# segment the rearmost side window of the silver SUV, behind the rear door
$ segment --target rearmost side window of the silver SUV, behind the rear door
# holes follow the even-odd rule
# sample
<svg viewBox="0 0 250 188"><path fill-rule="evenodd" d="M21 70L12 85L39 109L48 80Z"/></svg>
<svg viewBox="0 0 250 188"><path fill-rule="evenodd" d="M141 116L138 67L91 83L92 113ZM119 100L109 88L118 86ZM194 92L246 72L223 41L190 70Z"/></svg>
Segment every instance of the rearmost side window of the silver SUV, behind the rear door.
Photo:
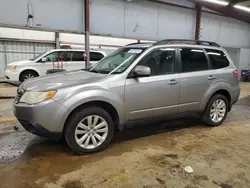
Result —
<svg viewBox="0 0 250 188"><path fill-rule="evenodd" d="M229 61L224 52L211 49L206 49L206 51L213 69L221 69L229 66Z"/></svg>

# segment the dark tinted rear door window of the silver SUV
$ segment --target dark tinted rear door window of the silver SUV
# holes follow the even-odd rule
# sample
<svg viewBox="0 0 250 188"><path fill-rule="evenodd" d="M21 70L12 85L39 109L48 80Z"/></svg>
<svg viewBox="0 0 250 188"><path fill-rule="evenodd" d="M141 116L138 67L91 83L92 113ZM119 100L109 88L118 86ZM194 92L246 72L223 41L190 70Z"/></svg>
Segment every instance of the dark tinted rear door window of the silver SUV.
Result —
<svg viewBox="0 0 250 188"><path fill-rule="evenodd" d="M194 72L208 69L208 61L202 49L180 49L182 72Z"/></svg>

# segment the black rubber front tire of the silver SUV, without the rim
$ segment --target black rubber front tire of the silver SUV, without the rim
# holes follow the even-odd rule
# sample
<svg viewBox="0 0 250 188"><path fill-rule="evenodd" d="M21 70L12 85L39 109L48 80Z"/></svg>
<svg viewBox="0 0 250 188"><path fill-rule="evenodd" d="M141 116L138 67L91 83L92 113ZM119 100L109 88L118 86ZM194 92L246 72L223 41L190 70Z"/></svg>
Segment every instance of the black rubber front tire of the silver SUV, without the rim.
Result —
<svg viewBox="0 0 250 188"><path fill-rule="evenodd" d="M100 117L102 117L103 119L105 119L105 121L108 124L108 135L105 139L105 141L98 147L94 148L94 149L85 149L82 148L81 146L78 145L78 143L75 140L75 129L78 125L78 123L84 119L87 116L90 115L98 115ZM93 153L93 152L98 152L103 150L104 148L106 148L108 146L108 144L110 143L113 134L114 134L114 124L113 124L113 120L110 117L110 115L108 114L108 112L106 112L105 110L103 110L102 108L99 107L90 107L90 108L84 108L78 112L76 112L75 114L73 114L69 121L66 123L66 129L65 129L65 140L67 142L67 144L70 146L70 148L79 154L83 154L83 153Z"/></svg>

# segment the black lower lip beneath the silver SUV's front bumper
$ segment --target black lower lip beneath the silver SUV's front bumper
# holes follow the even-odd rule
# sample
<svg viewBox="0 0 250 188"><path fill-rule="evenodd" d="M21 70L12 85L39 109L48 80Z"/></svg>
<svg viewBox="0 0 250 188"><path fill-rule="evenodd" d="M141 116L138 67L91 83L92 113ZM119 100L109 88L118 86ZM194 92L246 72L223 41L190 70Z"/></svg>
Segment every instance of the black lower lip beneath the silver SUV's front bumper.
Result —
<svg viewBox="0 0 250 188"><path fill-rule="evenodd" d="M32 123L27 120L21 120L21 119L18 119L18 121L27 131L29 131L32 134L46 137L55 141L60 140L62 137L61 132L51 132L37 123Z"/></svg>

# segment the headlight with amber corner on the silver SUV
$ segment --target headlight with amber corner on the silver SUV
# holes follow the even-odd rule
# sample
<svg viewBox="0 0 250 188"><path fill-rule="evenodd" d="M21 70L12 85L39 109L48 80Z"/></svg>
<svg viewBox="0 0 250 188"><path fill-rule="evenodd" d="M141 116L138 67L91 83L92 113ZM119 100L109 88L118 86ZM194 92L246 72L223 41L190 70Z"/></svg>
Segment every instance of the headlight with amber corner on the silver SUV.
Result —
<svg viewBox="0 0 250 188"><path fill-rule="evenodd" d="M56 91L47 92L32 92L26 91L20 99L20 102L27 104L36 104L52 98L56 94Z"/></svg>

